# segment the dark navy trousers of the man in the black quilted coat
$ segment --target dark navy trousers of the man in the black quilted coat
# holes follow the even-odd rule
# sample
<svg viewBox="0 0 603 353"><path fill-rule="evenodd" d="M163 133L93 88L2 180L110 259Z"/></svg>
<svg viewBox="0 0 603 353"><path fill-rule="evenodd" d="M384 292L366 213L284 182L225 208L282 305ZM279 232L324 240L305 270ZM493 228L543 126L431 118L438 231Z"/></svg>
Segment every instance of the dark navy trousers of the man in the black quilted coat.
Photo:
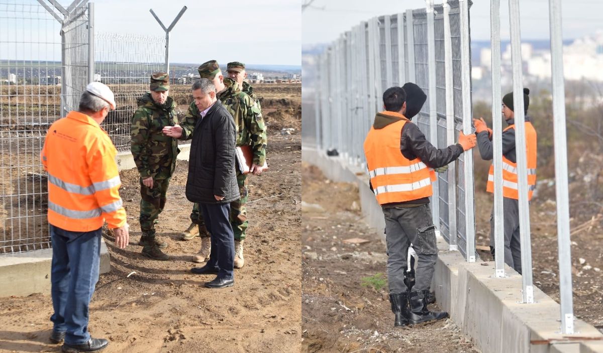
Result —
<svg viewBox="0 0 603 353"><path fill-rule="evenodd" d="M218 277L234 277L235 236L229 221L230 204L199 204L207 230L211 234L212 251L207 265L218 268Z"/></svg>

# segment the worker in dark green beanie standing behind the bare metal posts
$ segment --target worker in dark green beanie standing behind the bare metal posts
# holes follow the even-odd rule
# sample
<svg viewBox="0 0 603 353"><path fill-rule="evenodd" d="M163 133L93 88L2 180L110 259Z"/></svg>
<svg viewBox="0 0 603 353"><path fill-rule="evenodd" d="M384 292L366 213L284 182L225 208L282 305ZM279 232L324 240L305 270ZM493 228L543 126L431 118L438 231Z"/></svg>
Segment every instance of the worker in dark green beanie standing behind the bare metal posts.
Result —
<svg viewBox="0 0 603 353"><path fill-rule="evenodd" d="M528 158L528 201L536 187L536 130L528 116L529 89L523 89L525 115L526 157ZM517 152L515 149L515 110L513 92L502 98L502 116L508 127L502 131L502 207L504 211L505 263L522 273L522 248L519 237L519 193L517 191ZM483 160L492 160L492 130L484 118L473 119L478 137L479 154ZM494 164L488 172L487 192L494 192ZM490 215L490 252L494 256L494 210Z"/></svg>

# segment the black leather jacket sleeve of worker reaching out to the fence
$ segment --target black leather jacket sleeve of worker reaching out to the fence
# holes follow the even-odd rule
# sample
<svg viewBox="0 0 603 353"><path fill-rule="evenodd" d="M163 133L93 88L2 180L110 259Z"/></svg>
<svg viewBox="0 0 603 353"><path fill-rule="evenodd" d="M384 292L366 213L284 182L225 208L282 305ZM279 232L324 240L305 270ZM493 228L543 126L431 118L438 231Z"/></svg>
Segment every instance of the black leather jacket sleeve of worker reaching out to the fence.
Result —
<svg viewBox="0 0 603 353"><path fill-rule="evenodd" d="M400 151L409 160L420 158L431 168L443 167L463 154L463 146L456 143L447 148L437 149L429 143L425 135L414 123L406 123L400 137Z"/></svg>

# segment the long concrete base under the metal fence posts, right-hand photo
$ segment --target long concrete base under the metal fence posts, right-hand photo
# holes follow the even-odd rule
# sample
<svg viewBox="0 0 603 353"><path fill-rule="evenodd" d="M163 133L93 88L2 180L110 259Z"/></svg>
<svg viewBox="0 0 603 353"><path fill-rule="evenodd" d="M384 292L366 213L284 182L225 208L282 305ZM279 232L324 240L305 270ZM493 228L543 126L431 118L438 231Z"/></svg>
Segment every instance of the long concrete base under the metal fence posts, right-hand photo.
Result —
<svg viewBox="0 0 603 353"><path fill-rule="evenodd" d="M362 213L377 234L384 219L365 172L347 165L341 157L303 147L302 160L323 170L333 181L358 185ZM560 333L559 304L534 287L534 304L523 304L522 277L506 266L506 278L493 278L494 263L467 263L463 255L448 251L438 238L440 249L432 289L439 304L484 353L594 353L603 352L603 334L593 326L575 320L575 334Z"/></svg>

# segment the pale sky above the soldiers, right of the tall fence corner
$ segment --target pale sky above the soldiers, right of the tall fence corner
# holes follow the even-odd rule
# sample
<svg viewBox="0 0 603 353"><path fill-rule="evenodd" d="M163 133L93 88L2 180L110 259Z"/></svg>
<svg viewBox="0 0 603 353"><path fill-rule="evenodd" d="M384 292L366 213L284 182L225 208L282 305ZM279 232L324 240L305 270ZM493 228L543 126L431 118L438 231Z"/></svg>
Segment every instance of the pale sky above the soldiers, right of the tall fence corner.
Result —
<svg viewBox="0 0 603 353"><path fill-rule="evenodd" d="M96 0L96 31L165 36L165 27L184 5L169 37L172 63L301 64L300 1L295 0ZM71 0L60 0L65 6Z"/></svg>

